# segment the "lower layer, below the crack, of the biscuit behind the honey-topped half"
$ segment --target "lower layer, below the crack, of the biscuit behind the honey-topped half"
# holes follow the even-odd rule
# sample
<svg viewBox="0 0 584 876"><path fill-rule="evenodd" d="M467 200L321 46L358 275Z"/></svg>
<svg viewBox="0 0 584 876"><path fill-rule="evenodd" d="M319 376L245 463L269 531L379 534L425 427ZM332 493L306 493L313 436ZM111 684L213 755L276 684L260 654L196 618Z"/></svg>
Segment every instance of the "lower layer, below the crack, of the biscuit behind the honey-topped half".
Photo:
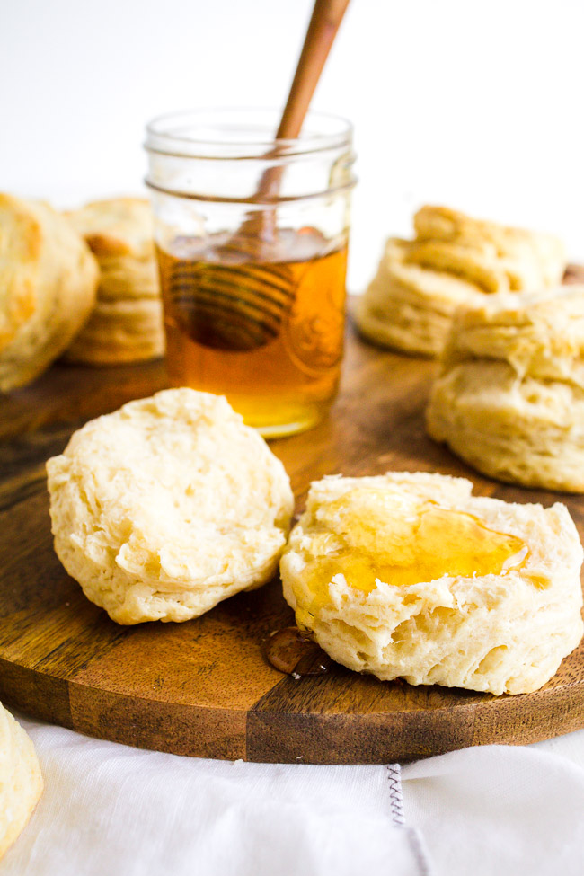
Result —
<svg viewBox="0 0 584 876"><path fill-rule="evenodd" d="M464 362L438 378L429 436L479 472L546 490L584 492L584 393L518 380L504 362Z"/></svg>

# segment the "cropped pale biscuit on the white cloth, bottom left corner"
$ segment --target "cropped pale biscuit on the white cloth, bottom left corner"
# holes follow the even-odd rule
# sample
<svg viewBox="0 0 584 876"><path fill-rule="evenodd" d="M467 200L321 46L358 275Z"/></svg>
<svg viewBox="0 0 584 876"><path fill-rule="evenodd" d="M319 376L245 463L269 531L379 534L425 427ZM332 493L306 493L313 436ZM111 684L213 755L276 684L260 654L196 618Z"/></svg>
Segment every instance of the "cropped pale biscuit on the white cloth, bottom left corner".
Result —
<svg viewBox="0 0 584 876"><path fill-rule="evenodd" d="M0 858L26 826L41 793L31 739L0 705Z"/></svg>

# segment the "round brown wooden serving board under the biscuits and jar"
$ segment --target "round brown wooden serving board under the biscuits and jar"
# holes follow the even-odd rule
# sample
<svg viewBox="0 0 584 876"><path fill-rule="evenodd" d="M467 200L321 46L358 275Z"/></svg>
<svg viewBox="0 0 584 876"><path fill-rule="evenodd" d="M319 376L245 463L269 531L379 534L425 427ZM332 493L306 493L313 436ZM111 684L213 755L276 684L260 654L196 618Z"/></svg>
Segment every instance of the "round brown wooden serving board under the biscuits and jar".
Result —
<svg viewBox="0 0 584 876"><path fill-rule="evenodd" d="M584 497L486 480L426 437L435 364L350 331L341 394L316 429L272 442L297 509L323 474L438 471L511 501L560 498L584 535ZM84 420L165 385L161 363L56 366L0 405L0 699L23 712L143 748L199 757L382 763L453 748L526 743L584 727L584 644L534 694L500 696L361 677L295 680L261 642L294 623L279 580L185 624L122 627L83 596L53 553L44 462Z"/></svg>

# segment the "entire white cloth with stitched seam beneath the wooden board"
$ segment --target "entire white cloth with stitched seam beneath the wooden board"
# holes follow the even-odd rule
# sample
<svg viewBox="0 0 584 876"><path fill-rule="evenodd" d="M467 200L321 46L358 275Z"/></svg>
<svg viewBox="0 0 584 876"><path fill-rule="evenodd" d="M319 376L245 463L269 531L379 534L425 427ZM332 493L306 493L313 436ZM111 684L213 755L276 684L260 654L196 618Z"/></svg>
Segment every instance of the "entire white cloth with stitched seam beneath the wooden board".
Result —
<svg viewBox="0 0 584 876"><path fill-rule="evenodd" d="M402 798L392 765L233 764L20 720L46 789L1 876L584 872L584 731L403 766Z"/></svg>

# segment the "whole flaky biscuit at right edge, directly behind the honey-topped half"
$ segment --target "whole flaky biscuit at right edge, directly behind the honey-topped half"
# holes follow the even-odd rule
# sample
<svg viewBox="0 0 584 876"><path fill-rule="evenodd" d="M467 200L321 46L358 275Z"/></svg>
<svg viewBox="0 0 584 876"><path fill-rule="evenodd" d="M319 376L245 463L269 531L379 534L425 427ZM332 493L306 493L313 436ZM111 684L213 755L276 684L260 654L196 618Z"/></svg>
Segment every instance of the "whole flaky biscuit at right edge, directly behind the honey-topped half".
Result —
<svg viewBox="0 0 584 876"><path fill-rule="evenodd" d="M491 477L584 492L584 286L461 308L426 423Z"/></svg>

